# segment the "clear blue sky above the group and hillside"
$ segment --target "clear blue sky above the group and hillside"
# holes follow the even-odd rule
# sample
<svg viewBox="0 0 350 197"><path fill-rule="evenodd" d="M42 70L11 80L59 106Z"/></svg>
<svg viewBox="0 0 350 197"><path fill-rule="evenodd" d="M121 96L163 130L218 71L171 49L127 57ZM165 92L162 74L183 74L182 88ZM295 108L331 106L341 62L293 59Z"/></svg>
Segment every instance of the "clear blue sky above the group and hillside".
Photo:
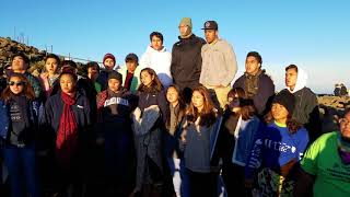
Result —
<svg viewBox="0 0 350 197"><path fill-rule="evenodd" d="M277 90L291 63L307 72L315 93L332 93L340 82L350 88L348 0L1 0L0 36L21 35L39 49L95 61L112 53L125 65L127 54L144 53L153 31L171 51L184 16L200 37L206 21L218 22L237 56L236 78L247 53L258 51Z"/></svg>

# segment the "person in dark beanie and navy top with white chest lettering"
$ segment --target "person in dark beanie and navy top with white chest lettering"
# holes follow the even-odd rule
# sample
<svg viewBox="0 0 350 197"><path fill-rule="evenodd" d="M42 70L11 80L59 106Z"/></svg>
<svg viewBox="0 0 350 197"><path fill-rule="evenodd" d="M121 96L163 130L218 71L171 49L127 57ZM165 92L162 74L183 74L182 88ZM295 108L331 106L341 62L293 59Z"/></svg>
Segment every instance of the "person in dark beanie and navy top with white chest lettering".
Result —
<svg viewBox="0 0 350 197"><path fill-rule="evenodd" d="M105 183L108 194L128 196L132 192L133 143L131 131L131 103L135 99L122 88L122 76L112 70L107 90L97 95L96 143L104 148Z"/></svg>

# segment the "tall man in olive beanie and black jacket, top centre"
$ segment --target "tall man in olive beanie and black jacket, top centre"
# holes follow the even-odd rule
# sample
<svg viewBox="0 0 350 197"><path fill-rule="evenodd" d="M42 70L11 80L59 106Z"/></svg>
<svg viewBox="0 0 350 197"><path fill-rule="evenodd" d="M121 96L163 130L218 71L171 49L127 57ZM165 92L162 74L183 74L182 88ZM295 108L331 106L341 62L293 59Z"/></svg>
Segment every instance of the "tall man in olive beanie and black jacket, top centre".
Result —
<svg viewBox="0 0 350 197"><path fill-rule="evenodd" d="M191 90L199 85L201 72L201 47L206 40L192 34L190 18L183 18L178 25L178 42L173 45L171 74L186 103L190 102Z"/></svg>

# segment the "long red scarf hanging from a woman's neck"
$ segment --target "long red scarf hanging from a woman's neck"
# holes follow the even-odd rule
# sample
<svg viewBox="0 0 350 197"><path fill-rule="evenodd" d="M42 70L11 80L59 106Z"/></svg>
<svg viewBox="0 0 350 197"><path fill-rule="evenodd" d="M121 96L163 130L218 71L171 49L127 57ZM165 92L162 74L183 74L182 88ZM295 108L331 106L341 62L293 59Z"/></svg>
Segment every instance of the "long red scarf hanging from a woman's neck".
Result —
<svg viewBox="0 0 350 197"><path fill-rule="evenodd" d="M56 157L61 167L69 169L78 147L78 125L71 109L71 106L75 104L75 96L61 92L61 100L63 111L56 139Z"/></svg>

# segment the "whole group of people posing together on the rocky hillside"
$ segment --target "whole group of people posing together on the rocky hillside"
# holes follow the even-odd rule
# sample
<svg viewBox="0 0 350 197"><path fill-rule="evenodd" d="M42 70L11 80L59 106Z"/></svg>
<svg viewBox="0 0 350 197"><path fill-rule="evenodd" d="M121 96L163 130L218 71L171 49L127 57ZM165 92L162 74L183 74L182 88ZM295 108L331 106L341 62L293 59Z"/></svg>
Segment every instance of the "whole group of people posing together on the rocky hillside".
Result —
<svg viewBox="0 0 350 197"><path fill-rule="evenodd" d="M302 68L285 67L276 94L250 51L233 82L235 54L215 21L206 39L189 18L178 30L172 53L153 32L140 60L129 54L115 70L106 54L104 69L92 61L84 76L50 54L34 77L16 54L0 100L11 196L45 196L48 183L50 196L350 195L349 111L322 135Z"/></svg>

